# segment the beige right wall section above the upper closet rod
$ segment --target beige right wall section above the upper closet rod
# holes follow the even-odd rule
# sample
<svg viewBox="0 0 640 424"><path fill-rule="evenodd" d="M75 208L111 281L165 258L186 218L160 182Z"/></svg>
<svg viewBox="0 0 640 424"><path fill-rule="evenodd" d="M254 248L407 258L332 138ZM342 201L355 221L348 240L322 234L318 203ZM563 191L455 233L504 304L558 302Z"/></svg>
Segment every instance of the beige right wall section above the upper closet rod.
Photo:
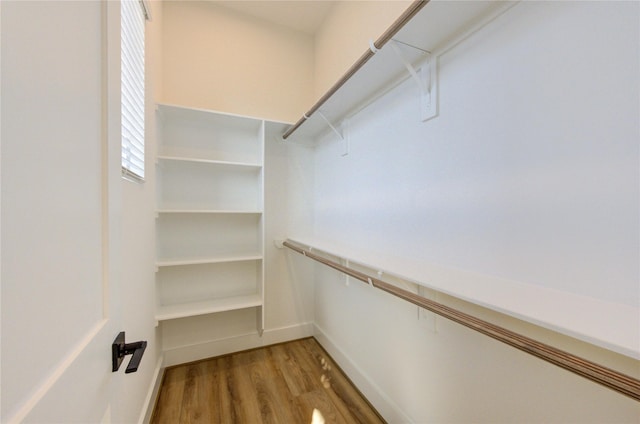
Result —
<svg viewBox="0 0 640 424"><path fill-rule="evenodd" d="M369 41L376 41L410 4L406 0L335 2L315 35L314 100L333 86L369 49Z"/></svg>

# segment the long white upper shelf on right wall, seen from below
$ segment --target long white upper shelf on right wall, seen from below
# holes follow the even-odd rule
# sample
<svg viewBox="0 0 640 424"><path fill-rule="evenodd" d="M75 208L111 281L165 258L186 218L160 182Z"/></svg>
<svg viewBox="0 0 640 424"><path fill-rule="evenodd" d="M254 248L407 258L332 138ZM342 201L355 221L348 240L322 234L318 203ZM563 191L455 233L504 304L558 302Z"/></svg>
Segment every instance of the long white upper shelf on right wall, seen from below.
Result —
<svg viewBox="0 0 640 424"><path fill-rule="evenodd" d="M431 1L392 40L397 42L404 59L418 66L429 57L429 53L437 56L439 51L451 45L453 40L461 37L476 23L496 16L515 3L496 0ZM335 93L324 102L319 100L310 111L321 107L327 120L338 127L342 120L409 78L407 68L390 44L391 41L380 48ZM363 46L365 54L368 49L369 46ZM291 133L290 140L309 142L331 131L318 113L307 112L305 115L309 118L303 117L298 121L302 123Z"/></svg>

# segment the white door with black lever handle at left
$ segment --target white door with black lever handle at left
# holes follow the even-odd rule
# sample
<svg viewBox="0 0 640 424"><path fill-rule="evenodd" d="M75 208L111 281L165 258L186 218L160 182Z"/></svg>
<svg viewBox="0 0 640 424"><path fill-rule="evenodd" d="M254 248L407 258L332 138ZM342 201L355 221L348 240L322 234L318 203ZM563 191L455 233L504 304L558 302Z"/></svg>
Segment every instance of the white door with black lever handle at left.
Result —
<svg viewBox="0 0 640 424"><path fill-rule="evenodd" d="M108 421L125 378L106 3L0 6L2 422Z"/></svg>

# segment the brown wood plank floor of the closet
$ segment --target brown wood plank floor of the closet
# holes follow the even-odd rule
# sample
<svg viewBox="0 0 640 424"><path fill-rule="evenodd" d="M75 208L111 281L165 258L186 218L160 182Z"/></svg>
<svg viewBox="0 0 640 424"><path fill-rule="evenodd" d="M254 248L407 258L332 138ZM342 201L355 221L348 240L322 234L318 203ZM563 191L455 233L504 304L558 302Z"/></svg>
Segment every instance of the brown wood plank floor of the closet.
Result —
<svg viewBox="0 0 640 424"><path fill-rule="evenodd" d="M313 338L167 368L152 423L384 423Z"/></svg>

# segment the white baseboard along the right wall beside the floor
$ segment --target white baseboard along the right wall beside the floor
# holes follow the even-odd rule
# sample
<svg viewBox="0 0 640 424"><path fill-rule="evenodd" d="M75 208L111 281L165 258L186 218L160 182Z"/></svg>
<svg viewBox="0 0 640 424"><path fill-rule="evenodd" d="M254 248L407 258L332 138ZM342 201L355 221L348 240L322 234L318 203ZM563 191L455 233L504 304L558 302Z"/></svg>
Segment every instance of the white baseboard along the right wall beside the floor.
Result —
<svg viewBox="0 0 640 424"><path fill-rule="evenodd" d="M358 367L357 361L342 351L317 324L313 326L313 336L387 422L413 423L413 420L369 378L367 373Z"/></svg>

